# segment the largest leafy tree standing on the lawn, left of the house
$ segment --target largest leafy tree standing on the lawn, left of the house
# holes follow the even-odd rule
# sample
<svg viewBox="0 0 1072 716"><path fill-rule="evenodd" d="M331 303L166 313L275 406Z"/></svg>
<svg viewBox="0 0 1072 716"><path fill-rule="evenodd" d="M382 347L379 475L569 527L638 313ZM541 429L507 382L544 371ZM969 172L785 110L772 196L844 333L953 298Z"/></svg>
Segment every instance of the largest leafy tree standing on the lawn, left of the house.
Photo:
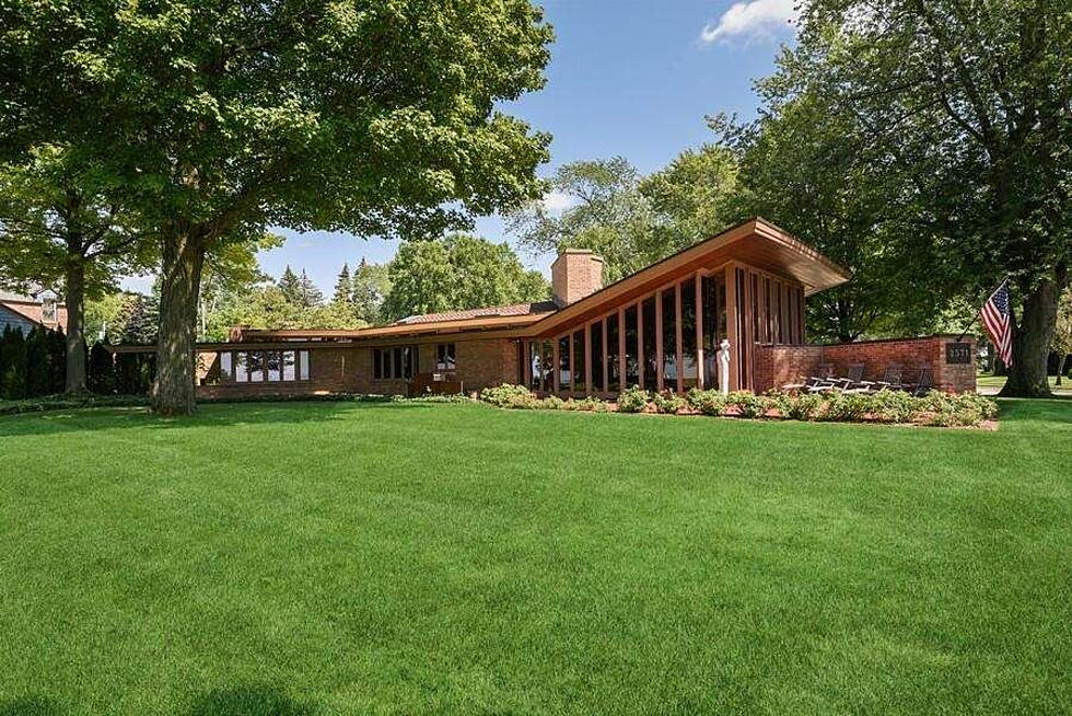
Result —
<svg viewBox="0 0 1072 716"><path fill-rule="evenodd" d="M156 231L161 413L195 408L208 252L268 226L439 235L539 192L548 138L497 109L544 84L551 30L528 0L88 0L3 15L0 125L103 137ZM58 106L39 100L48 81L63 84Z"/></svg>

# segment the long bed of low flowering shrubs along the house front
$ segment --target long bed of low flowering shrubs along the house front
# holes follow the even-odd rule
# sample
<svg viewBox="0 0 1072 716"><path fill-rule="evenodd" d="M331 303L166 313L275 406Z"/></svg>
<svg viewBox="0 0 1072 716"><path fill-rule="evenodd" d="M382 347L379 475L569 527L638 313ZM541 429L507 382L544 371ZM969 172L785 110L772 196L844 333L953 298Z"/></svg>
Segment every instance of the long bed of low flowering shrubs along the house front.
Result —
<svg viewBox="0 0 1072 716"><path fill-rule="evenodd" d="M998 416L998 403L989 397L939 391L917 397L887 390L871 394L832 391L797 395L777 391L756 395L749 391L737 391L722 395L713 390L694 389L688 395L680 396L668 391L650 393L640 388L629 388L618 395L616 403L609 403L595 397L539 397L523 385L503 384L483 390L480 400L509 409L661 413L943 427L978 427Z"/></svg>

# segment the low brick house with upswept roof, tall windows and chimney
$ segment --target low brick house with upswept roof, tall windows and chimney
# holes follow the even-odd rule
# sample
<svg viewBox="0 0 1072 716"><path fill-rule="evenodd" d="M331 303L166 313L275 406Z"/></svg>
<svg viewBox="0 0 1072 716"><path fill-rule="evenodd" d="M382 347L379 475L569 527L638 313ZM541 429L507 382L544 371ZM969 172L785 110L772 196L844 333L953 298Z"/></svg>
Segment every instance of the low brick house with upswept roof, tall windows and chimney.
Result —
<svg viewBox="0 0 1072 716"><path fill-rule="evenodd" d="M624 388L718 385L730 342L732 390L761 392L863 365L882 379L930 368L935 388L975 390L970 338L806 344L808 296L847 270L764 219L751 219L603 286L603 259L569 250L551 265L552 301L450 311L359 331L235 328L199 344L198 395L471 392L501 383L539 393L614 396ZM151 347L119 346L117 351Z"/></svg>

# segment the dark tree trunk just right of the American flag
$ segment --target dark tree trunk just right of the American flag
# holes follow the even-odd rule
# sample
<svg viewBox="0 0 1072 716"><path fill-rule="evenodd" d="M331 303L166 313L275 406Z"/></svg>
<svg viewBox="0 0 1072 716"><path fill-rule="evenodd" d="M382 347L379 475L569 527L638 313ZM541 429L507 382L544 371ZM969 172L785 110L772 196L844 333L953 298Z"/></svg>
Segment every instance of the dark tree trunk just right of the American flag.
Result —
<svg viewBox="0 0 1072 716"><path fill-rule="evenodd" d="M1068 270L1059 266L1053 276L1030 292L1024 301L1019 324L1013 325L1013 365L1002 397L1049 397L1046 362L1057 326L1057 303L1068 284Z"/></svg>

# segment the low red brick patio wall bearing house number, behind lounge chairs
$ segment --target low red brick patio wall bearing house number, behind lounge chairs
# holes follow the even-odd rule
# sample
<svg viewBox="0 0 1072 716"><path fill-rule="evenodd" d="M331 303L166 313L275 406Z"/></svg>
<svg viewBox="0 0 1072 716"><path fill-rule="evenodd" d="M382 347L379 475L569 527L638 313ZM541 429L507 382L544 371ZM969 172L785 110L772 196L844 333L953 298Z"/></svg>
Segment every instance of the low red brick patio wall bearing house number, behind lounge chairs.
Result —
<svg viewBox="0 0 1072 716"><path fill-rule="evenodd" d="M834 346L756 346L756 392L786 383L801 382L819 374L825 365L834 367L836 376L846 376L849 366L863 363L864 380L882 380L889 366L901 367L901 379L913 382L920 368L930 367L934 386L957 393L976 390L975 338L965 336L972 361L947 365L945 346L957 336L937 335L892 340L861 340Z"/></svg>

